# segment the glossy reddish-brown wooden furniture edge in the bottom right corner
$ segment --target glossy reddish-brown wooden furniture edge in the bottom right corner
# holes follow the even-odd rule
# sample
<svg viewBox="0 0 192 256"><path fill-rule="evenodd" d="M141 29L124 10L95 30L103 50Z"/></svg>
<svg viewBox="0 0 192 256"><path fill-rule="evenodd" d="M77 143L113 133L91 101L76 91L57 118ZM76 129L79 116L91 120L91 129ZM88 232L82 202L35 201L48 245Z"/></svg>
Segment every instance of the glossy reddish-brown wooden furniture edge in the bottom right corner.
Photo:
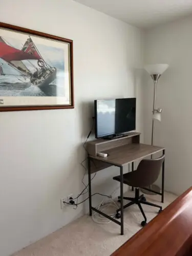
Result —
<svg viewBox="0 0 192 256"><path fill-rule="evenodd" d="M192 256L192 187L112 256Z"/></svg>

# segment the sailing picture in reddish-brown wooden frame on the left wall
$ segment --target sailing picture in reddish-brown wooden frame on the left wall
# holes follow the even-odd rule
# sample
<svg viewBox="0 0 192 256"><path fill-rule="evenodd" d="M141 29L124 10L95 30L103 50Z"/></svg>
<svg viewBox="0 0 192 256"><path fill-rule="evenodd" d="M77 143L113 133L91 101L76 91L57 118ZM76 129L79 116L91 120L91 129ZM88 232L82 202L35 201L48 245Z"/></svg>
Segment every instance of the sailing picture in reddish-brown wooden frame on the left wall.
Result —
<svg viewBox="0 0 192 256"><path fill-rule="evenodd" d="M73 41L0 23L0 111L72 108Z"/></svg>

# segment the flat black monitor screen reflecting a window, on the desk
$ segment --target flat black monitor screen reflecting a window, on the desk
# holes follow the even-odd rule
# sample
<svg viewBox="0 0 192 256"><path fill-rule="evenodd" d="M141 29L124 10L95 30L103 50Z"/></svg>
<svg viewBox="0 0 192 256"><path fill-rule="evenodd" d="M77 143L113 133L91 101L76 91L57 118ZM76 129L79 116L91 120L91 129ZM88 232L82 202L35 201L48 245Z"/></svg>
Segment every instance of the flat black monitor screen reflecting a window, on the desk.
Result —
<svg viewBox="0 0 192 256"><path fill-rule="evenodd" d="M96 138L136 128L136 98L95 100Z"/></svg>

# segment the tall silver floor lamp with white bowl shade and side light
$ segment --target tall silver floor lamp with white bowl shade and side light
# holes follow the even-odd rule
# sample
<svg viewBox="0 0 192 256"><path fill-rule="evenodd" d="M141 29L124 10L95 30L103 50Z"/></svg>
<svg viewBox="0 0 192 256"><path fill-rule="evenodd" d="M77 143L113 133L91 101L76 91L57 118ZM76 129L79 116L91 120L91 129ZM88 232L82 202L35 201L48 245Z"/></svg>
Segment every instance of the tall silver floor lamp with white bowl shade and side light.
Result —
<svg viewBox="0 0 192 256"><path fill-rule="evenodd" d="M157 96L157 81L160 76L165 72L168 68L167 64L154 64L154 65L146 65L144 69L151 75L154 82L154 96L153 96L153 118L152 118L152 145L154 144L154 136L155 136L155 120L161 121L161 112L162 109L156 109L156 96ZM152 158L152 156L151 156ZM157 185L152 185L150 189L160 192L160 188ZM153 192L143 190L145 194L155 195Z"/></svg>

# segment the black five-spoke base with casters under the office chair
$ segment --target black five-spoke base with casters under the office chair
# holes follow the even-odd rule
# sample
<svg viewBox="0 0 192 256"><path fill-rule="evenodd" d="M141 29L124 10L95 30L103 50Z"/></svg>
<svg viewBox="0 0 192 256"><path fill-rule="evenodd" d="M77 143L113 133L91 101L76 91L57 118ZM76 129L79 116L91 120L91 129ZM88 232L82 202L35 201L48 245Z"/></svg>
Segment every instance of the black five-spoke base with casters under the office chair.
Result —
<svg viewBox="0 0 192 256"><path fill-rule="evenodd" d="M157 204L153 204L153 203L150 203L150 202L147 202L146 198L143 195L139 196L139 188L135 189L135 198L133 198L133 197L123 197L123 199L131 201L128 204L125 204L123 206L123 209L125 209L127 207L130 207L133 204L137 204L138 205L138 207L139 207L139 209L140 209L140 211L142 213L142 216L144 218L144 221L141 222L141 226L142 227L144 227L147 224L147 219L146 219L146 216L145 216L145 213L143 211L143 208L142 208L141 204L146 204L146 205L150 205L150 206L154 206L154 207L160 208L159 209L159 213L162 211L162 206L157 205ZM118 201L120 201L120 197L118 197ZM121 208L117 209L117 213L116 213L116 216L115 216L116 219L119 219L121 217L119 211L121 211Z"/></svg>

